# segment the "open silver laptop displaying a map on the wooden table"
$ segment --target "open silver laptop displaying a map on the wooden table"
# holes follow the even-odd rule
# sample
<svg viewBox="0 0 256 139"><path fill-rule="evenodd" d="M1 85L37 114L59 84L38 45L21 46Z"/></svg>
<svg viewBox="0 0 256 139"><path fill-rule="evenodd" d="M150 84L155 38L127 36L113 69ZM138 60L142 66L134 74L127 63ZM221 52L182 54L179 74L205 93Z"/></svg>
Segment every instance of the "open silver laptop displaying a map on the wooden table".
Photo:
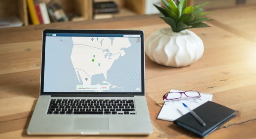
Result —
<svg viewBox="0 0 256 139"><path fill-rule="evenodd" d="M52 30L42 35L40 96L28 134L150 134L144 33Z"/></svg>

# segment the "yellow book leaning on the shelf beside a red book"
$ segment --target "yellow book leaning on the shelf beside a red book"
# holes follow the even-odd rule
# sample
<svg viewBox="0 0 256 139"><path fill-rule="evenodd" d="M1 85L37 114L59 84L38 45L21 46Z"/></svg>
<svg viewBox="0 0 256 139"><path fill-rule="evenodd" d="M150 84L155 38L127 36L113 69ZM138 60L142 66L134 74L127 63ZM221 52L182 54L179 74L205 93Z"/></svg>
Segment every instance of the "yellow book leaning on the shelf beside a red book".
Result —
<svg viewBox="0 0 256 139"><path fill-rule="evenodd" d="M37 10L36 10L34 1L33 0L27 0L27 2L28 2L28 9L29 9L29 14L30 14L32 24L33 25L40 24L39 18L37 16Z"/></svg>

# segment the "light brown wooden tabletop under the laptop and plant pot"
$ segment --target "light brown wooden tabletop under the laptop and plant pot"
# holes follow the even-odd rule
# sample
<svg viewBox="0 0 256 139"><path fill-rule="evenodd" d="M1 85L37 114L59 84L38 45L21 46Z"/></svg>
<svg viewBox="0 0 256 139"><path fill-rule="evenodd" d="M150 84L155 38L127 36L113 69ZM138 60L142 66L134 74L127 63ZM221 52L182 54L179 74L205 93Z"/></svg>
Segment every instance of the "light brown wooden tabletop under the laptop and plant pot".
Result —
<svg viewBox="0 0 256 139"><path fill-rule="evenodd" d="M0 138L197 138L172 122L157 120L168 90L198 90L238 114L207 139L256 138L256 5L214 10L212 27L192 31L204 42L196 63L165 67L146 56L146 98L154 133L149 136L28 136L39 96L41 38L45 28L144 30L168 27L157 15L54 23L0 30Z"/></svg>

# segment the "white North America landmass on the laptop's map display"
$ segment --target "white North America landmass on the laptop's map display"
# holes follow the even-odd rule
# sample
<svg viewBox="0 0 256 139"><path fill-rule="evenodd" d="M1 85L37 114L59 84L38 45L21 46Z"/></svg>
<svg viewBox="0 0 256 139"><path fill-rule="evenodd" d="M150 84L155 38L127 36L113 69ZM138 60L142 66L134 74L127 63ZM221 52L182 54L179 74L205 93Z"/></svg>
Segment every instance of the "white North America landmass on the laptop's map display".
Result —
<svg viewBox="0 0 256 139"><path fill-rule="evenodd" d="M83 85L91 85L92 76L96 74L103 74L107 80L107 71L114 61L125 55L122 48L131 46L125 37L72 37L72 41L70 58L78 81L81 79Z"/></svg>

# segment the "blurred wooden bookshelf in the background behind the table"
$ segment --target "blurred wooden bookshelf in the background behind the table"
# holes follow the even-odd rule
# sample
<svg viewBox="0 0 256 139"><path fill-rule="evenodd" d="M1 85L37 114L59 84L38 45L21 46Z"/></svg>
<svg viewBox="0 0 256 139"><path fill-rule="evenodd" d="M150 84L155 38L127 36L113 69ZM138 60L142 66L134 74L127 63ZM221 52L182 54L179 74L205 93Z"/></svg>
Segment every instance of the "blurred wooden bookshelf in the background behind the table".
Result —
<svg viewBox="0 0 256 139"><path fill-rule="evenodd" d="M49 3L51 0L37 0ZM113 17L124 17L145 14L145 7L148 1L157 0L58 0L64 12L73 17L71 21L85 21L94 19L93 2L114 1L119 9L118 13L113 14ZM160 2L161 0L158 0ZM210 1L210 5L205 8L221 8L238 5L238 1L245 1L245 4L256 3L255 0L188 0L188 5L194 3L202 3ZM150 4L152 5L152 4ZM20 19L25 26L32 25L30 23L30 15L28 11L27 0L0 0L0 17L15 16Z"/></svg>

